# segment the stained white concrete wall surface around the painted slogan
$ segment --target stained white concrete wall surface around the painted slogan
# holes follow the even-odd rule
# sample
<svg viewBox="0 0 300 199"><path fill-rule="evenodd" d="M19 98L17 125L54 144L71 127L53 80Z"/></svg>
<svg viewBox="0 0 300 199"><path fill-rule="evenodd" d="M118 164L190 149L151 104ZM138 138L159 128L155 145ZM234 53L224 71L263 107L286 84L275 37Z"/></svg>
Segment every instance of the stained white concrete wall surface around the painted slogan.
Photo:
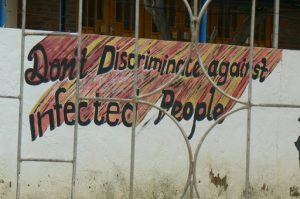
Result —
<svg viewBox="0 0 300 199"><path fill-rule="evenodd" d="M0 37L0 95L18 95L20 30L2 29ZM26 56L41 39L27 37ZM284 50L282 61L267 80L253 82L255 103L299 105L299 57L299 51ZM32 62L26 61L25 65L32 66ZM73 127L62 125L31 141L28 115L51 85L25 84L22 157L72 158ZM241 99L247 99L247 90ZM18 101L0 99L0 110L0 198L7 199L15 197L16 189ZM159 125L153 124L157 114L151 110L137 128L136 198L179 198L188 174L186 145L171 120L164 118ZM253 198L286 199L300 192L299 155L294 145L300 135L299 116L299 109L253 108L250 167ZM149 124L143 127L148 120ZM243 197L246 121L247 111L238 112L208 135L197 162L202 198ZM191 122L180 124L187 131L191 128ZM210 125L212 122L207 120L198 123L191 140L193 150ZM123 125L79 127L77 198L127 198L130 135L131 129ZM68 164L22 163L22 198L69 198L71 169ZM224 184L216 186L225 176L226 190Z"/></svg>

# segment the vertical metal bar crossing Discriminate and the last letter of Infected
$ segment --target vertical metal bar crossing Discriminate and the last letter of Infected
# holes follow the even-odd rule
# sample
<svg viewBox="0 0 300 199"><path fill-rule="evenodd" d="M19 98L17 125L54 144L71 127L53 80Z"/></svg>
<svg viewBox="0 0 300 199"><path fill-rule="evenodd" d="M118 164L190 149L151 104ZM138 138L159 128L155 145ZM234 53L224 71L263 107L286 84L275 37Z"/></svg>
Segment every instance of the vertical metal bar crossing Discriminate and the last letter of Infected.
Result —
<svg viewBox="0 0 300 199"><path fill-rule="evenodd" d="M139 0L135 1L135 64L133 71L133 90L134 90L134 101L133 101L133 113L132 113L132 128L131 128L131 154L130 154L130 184L129 184L129 199L133 199L133 181L134 181L134 161L135 161L135 131L136 131L136 118L137 118L137 97L138 97L138 46L139 46Z"/></svg>

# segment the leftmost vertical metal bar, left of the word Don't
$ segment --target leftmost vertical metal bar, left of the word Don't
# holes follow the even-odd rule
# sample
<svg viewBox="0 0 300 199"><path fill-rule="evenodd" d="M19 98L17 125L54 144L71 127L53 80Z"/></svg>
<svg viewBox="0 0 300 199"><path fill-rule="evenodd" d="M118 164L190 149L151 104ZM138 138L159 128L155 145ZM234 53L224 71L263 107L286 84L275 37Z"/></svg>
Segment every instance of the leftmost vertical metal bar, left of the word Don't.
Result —
<svg viewBox="0 0 300 199"><path fill-rule="evenodd" d="M24 59L25 59L25 28L26 28L26 0L22 1L22 35L21 35L21 72L20 72L20 98L19 98L19 121L18 121L18 151L17 151L17 189L16 198L20 198L20 175L22 153L22 121L23 121L23 93L24 93Z"/></svg>

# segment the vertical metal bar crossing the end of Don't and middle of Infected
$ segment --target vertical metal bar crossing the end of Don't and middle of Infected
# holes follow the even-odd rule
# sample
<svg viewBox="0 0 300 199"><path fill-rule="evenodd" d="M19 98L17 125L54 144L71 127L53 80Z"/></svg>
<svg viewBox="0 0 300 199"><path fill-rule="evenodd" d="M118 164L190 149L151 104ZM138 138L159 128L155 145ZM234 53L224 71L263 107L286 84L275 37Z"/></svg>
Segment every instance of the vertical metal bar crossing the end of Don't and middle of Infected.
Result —
<svg viewBox="0 0 300 199"><path fill-rule="evenodd" d="M75 93L75 125L73 138L73 168L72 168L72 188L71 199L75 197L76 183L76 166L77 166L77 139L78 139L78 118L79 118L79 85L80 85L80 67L81 67L81 31L82 31L82 0L78 5L78 43L77 43L77 76L76 76L76 93Z"/></svg>

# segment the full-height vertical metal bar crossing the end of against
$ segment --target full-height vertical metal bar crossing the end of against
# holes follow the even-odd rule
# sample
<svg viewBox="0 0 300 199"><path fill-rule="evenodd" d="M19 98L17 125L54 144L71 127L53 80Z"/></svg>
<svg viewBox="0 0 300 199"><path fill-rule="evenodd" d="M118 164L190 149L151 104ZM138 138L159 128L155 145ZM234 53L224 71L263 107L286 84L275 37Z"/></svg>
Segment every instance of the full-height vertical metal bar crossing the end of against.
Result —
<svg viewBox="0 0 300 199"><path fill-rule="evenodd" d="M251 8L251 29L250 29L250 60L249 60L249 86L248 86L248 111L247 111L247 139L246 139L246 177L245 189L246 199L250 199L250 141L251 141L251 101L252 101L252 71L254 59L254 32L255 32L255 8L256 0L252 0Z"/></svg>

